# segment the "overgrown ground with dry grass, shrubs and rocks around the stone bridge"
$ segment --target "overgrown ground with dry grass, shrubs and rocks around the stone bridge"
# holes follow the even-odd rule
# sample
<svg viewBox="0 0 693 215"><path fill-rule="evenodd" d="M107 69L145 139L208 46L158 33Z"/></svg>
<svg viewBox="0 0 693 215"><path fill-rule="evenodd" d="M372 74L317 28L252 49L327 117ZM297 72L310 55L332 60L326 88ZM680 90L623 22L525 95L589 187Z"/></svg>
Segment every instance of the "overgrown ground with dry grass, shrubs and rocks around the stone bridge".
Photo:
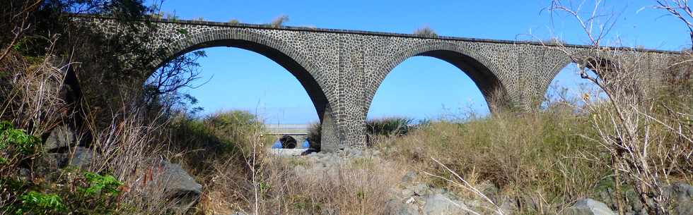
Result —
<svg viewBox="0 0 693 215"><path fill-rule="evenodd" d="M569 6L549 11L582 14ZM126 27L103 37L71 23L77 12ZM282 156L252 113L197 114L181 89L199 78L204 51L148 68L161 50L143 44L156 29L130 20L163 14L139 0L1 1L0 214L566 214L585 198L619 214L693 208L681 191L693 193L691 50L656 84L639 59L570 56L606 97L380 118L364 149ZM585 32L591 54L613 51ZM320 148L319 124L308 140Z"/></svg>

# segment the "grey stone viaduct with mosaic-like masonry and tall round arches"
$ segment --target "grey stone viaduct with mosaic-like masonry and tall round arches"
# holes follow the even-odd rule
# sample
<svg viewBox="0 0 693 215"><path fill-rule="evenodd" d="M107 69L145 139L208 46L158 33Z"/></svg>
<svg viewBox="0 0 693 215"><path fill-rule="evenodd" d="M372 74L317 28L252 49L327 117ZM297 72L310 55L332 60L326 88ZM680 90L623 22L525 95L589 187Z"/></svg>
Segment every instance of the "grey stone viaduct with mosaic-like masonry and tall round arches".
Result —
<svg viewBox="0 0 693 215"><path fill-rule="evenodd" d="M73 20L103 32L105 37L124 29L112 18L73 15ZM542 97L554 76L572 62L569 56L581 56L590 49L579 45L557 49L537 42L192 20L152 19L141 23L143 27L156 28L147 44L163 53L152 63L152 71L175 56L207 47L248 49L279 63L301 82L313 101L322 123L322 149L327 151L366 144L366 115L378 86L392 68L412 56L431 56L460 68L479 87L493 111L498 104L535 108L533 99ZM611 50L614 58L638 57L647 68L643 71L660 71L666 59L677 54L646 49ZM660 76L658 72L648 74L654 79Z"/></svg>

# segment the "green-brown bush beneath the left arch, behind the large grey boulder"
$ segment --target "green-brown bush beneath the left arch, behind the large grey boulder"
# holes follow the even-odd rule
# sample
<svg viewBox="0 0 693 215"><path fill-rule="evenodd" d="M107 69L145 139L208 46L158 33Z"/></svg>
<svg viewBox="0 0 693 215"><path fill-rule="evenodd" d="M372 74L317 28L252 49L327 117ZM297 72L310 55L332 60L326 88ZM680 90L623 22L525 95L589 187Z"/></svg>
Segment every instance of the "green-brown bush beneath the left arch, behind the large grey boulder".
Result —
<svg viewBox="0 0 693 215"><path fill-rule="evenodd" d="M219 162L224 168L244 175L252 156L264 155L264 145L274 141L274 137L259 137L265 133L264 123L248 111L220 111L204 118L176 116L170 124L168 139L169 151L185 156L171 156L172 162L180 163L197 181L205 185L211 182L211 174L219 171ZM270 139L271 138L271 139Z"/></svg>

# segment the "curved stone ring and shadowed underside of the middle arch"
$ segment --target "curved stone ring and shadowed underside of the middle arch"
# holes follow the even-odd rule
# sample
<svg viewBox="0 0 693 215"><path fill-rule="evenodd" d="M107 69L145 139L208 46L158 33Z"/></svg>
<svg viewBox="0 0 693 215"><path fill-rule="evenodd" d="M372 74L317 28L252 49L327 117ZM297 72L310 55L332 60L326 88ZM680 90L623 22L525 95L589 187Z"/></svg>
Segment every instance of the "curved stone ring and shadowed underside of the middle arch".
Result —
<svg viewBox="0 0 693 215"><path fill-rule="evenodd" d="M395 66L412 56L431 56L460 68L460 70L465 72L472 81L474 81L474 84L477 85L479 90L481 90L491 112L499 108L498 105L508 105L508 92L498 75L496 75L499 74L500 70L494 63L489 61L489 59L482 56L482 54L460 47L457 44L449 42L426 42L410 49L400 51L400 53L395 54L390 61L380 66L381 71L376 74L378 76L375 77L373 86L370 86L372 90L367 91L366 113L368 113L368 109L370 109L375 92L378 90L383 80L385 80L385 77ZM496 104L496 102L500 104Z"/></svg>

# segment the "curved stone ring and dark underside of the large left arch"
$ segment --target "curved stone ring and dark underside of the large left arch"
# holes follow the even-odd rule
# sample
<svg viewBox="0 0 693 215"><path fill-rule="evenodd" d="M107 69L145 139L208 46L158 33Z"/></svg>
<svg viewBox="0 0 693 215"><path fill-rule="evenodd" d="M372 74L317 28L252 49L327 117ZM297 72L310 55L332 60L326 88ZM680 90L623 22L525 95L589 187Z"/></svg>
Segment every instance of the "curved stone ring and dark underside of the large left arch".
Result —
<svg viewBox="0 0 693 215"><path fill-rule="evenodd" d="M310 100L318 112L318 117L322 122L325 118L327 109L327 95L325 87L322 85L320 76L316 75L317 68L313 63L307 61L304 56L298 54L298 51L291 50L291 47L285 42L268 37L267 35L250 32L248 30L211 30L200 32L195 35L187 35L175 42L171 42L163 51L163 59L161 62L154 62L156 68L163 63L174 59L177 56L209 47L235 47L255 51L262 54L272 61L278 63L301 82L301 85L308 92Z"/></svg>

